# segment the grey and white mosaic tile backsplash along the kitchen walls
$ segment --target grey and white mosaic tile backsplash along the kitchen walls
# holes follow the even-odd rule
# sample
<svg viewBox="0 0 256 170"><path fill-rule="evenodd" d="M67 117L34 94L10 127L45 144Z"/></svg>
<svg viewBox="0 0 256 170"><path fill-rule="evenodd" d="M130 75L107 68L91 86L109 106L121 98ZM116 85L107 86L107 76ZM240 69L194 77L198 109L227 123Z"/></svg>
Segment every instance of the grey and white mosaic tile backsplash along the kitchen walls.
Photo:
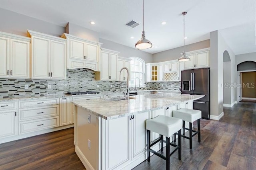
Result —
<svg viewBox="0 0 256 170"><path fill-rule="evenodd" d="M0 79L0 98L14 96L50 96L66 92L99 91L119 92L119 81L96 81L94 71L86 68L67 70L66 80ZM24 86L28 85L25 90ZM97 84L99 87L97 88ZM51 88L48 88L48 85ZM112 85L112 87L111 87ZM126 83L122 82L125 87ZM179 91L180 82L146 82L138 90ZM125 91L125 88L122 89ZM131 90L134 90L131 88Z"/></svg>

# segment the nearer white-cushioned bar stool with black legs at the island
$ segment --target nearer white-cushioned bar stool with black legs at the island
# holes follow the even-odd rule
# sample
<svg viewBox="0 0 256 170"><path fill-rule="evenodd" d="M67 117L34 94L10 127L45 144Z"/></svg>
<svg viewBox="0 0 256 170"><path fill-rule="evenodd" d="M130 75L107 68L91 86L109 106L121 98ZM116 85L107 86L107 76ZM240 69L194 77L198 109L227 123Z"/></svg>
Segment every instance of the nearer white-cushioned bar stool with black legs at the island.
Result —
<svg viewBox="0 0 256 170"><path fill-rule="evenodd" d="M182 129L182 119L175 117L168 117L164 115L159 115L153 119L146 120L146 129L147 129L147 151L148 151L148 162L150 162L150 152L156 154L160 158L166 160L166 170L170 170L170 156L178 150L178 158L181 160L181 129ZM150 131L160 134L160 137L156 139L152 144L150 144ZM170 137L178 131L178 145L170 143ZM166 141L164 137L166 136ZM153 145L160 141L161 151L164 150L163 142L166 143L166 156L160 154L152 149ZM170 145L175 147L174 151L170 153Z"/></svg>

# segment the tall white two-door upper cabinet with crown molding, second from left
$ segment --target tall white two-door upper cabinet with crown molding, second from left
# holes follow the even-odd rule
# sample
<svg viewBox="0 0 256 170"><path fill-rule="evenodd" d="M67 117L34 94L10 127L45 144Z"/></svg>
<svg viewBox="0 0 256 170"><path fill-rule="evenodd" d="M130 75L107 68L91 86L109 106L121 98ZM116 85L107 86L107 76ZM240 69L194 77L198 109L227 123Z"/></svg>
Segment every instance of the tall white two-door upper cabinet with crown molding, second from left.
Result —
<svg viewBox="0 0 256 170"><path fill-rule="evenodd" d="M66 78L66 39L28 30L31 37L32 78Z"/></svg>

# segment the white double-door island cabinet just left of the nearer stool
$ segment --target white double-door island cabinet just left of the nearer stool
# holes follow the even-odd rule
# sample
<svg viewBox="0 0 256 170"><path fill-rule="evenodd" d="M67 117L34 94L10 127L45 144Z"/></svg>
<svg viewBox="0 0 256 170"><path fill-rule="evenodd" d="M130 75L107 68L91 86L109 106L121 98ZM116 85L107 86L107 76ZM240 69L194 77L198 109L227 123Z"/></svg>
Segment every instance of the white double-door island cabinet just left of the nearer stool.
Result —
<svg viewBox="0 0 256 170"><path fill-rule="evenodd" d="M138 158L146 159L146 119L150 114L145 112L105 121L106 138L102 148L106 148L106 152L102 169L129 169L131 162Z"/></svg>

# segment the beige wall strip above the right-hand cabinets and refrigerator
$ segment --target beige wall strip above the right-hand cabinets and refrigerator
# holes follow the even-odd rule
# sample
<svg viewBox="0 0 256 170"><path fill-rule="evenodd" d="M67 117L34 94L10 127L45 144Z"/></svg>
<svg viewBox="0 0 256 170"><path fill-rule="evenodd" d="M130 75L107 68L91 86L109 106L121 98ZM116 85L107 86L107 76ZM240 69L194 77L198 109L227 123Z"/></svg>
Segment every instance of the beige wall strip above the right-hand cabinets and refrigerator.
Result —
<svg viewBox="0 0 256 170"><path fill-rule="evenodd" d="M189 44L185 46L185 51L194 51L199 49L205 49L210 47L210 39L205 41L200 41L197 43ZM176 60L181 57L181 54L183 52L183 47L178 47L175 49L170 49L166 51L162 51L159 53L153 54L153 62L158 63L162 61L169 61L169 60Z"/></svg>

